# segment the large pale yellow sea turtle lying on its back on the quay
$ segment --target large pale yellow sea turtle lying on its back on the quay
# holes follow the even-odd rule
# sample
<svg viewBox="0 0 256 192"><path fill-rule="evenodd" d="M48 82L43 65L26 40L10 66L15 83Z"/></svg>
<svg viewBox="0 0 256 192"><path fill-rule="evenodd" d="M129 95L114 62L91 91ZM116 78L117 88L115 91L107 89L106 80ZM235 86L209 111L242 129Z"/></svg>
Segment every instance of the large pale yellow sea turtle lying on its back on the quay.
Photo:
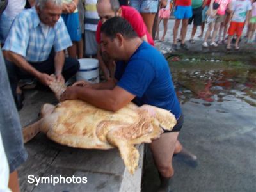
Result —
<svg viewBox="0 0 256 192"><path fill-rule="evenodd" d="M66 86L53 81L50 88L60 99ZM65 100L56 106L44 104L41 116L38 122L24 127L25 142L42 131L56 143L70 147L117 147L130 173L134 173L139 161L134 145L150 143L160 137L163 129L171 130L176 124L170 111L149 105L138 107L132 102L112 112L82 100Z"/></svg>

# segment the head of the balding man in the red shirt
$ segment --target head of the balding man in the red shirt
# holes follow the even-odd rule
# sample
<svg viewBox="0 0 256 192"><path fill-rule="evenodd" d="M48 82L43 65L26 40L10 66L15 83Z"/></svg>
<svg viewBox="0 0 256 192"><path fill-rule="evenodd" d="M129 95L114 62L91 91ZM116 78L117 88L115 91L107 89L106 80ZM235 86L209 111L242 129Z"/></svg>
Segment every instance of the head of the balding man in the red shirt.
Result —
<svg viewBox="0 0 256 192"><path fill-rule="evenodd" d="M106 20L120 16L120 4L118 0L98 0L97 1L97 12L102 23Z"/></svg>

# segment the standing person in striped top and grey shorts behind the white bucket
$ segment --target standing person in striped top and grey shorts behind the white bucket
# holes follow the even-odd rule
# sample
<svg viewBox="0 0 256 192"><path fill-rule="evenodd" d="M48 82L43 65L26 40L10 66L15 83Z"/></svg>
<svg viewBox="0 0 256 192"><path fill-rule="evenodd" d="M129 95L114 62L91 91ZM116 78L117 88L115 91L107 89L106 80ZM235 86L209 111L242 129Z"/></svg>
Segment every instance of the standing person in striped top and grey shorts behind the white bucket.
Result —
<svg viewBox="0 0 256 192"><path fill-rule="evenodd" d="M97 0L84 1L84 39L85 39L85 56L97 57L98 44L96 42L97 24L100 20L97 12Z"/></svg>

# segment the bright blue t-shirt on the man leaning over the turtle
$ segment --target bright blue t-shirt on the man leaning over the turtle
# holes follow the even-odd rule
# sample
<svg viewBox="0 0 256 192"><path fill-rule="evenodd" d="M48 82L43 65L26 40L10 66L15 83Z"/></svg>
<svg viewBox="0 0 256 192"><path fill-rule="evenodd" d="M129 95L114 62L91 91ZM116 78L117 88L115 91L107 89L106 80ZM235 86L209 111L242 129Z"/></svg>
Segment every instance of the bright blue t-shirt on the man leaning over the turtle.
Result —
<svg viewBox="0 0 256 192"><path fill-rule="evenodd" d="M139 106L149 104L170 110L175 118L181 114L170 68L164 56L152 45L143 42L127 63L117 62L117 86L133 95Z"/></svg>

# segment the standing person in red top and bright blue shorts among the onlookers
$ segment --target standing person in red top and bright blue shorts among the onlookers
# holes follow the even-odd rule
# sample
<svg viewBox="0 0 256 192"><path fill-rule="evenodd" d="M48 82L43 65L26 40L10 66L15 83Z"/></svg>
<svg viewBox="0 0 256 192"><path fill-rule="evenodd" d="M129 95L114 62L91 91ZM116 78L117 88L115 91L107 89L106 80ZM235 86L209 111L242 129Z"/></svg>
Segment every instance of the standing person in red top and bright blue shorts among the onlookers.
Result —
<svg viewBox="0 0 256 192"><path fill-rule="evenodd" d="M185 44L186 39L186 33L187 33L187 27L188 27L188 19L192 17L192 6L191 6L191 0L175 0L173 1L175 4L175 24L173 27L173 49L177 50L177 35L178 35L178 29L180 26L180 21L182 20L182 27L181 27L181 43L180 47L182 49L188 50L187 45Z"/></svg>

